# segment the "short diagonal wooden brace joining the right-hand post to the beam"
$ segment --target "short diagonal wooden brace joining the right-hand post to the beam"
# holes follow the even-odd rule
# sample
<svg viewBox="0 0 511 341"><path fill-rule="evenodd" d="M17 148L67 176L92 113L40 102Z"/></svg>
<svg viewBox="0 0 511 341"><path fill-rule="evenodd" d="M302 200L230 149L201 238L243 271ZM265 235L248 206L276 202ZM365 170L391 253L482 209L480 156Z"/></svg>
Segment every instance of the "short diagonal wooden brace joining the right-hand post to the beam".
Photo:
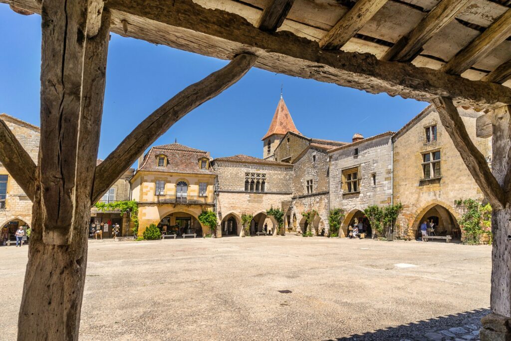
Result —
<svg viewBox="0 0 511 341"><path fill-rule="evenodd" d="M435 98L432 102L438 111L442 125L449 133L454 146L484 196L490 201L493 208L502 209L505 206L504 191L492 174L484 155L470 139L458 110L452 101L445 97Z"/></svg>

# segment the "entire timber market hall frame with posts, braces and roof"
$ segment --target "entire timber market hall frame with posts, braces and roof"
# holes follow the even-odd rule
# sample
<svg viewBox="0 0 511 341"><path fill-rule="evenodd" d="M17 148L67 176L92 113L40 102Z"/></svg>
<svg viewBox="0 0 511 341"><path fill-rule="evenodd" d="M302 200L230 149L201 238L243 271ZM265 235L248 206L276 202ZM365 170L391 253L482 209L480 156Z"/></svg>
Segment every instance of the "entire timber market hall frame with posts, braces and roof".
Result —
<svg viewBox="0 0 511 341"><path fill-rule="evenodd" d="M0 2L42 15L38 165L0 124L0 161L34 202L18 339L78 338L91 203L159 135L251 66L437 107L493 207L492 314L480 337L511 339L509 0ZM96 167L109 32L231 62L163 104ZM485 110L477 129L493 134L492 169L460 105Z"/></svg>

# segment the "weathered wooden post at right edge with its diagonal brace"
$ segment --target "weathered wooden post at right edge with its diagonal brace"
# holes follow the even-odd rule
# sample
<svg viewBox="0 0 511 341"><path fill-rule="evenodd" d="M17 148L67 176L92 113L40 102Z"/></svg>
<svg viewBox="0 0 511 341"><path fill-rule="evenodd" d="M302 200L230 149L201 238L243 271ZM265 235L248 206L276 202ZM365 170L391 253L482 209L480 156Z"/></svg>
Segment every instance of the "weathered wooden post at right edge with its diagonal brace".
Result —
<svg viewBox="0 0 511 341"><path fill-rule="evenodd" d="M492 205L492 313L482 319L482 341L511 340L511 118L510 106L503 106L486 114L480 137L492 138L492 170L484 156L475 147L461 121L458 110L447 98L437 98L433 104L440 120L451 136L463 161L477 185ZM490 133L487 132L491 126Z"/></svg>

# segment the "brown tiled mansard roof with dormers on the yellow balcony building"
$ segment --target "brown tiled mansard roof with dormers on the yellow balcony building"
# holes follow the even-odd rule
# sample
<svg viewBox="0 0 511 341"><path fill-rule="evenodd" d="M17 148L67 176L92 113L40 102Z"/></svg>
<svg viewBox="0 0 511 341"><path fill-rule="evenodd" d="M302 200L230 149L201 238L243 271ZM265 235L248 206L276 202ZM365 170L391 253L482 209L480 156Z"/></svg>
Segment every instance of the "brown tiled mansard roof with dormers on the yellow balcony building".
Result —
<svg viewBox="0 0 511 341"><path fill-rule="evenodd" d="M158 155L167 156L167 165L158 167ZM200 169L199 158L210 158L202 150L172 143L162 146L154 146L144 157L144 163L140 170L166 173L188 173L188 174L215 174L212 169Z"/></svg>

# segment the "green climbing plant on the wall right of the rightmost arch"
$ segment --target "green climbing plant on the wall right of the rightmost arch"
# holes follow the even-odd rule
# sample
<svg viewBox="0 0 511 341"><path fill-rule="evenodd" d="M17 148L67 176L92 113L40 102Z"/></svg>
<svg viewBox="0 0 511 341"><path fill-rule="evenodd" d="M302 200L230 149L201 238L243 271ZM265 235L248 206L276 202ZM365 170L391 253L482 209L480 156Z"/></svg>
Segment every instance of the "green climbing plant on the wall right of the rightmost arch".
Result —
<svg viewBox="0 0 511 341"><path fill-rule="evenodd" d="M479 244L480 237L487 235L492 243L492 207L489 203L483 205L477 200L456 200L457 206L463 207L465 213L458 220L465 232L466 244Z"/></svg>

